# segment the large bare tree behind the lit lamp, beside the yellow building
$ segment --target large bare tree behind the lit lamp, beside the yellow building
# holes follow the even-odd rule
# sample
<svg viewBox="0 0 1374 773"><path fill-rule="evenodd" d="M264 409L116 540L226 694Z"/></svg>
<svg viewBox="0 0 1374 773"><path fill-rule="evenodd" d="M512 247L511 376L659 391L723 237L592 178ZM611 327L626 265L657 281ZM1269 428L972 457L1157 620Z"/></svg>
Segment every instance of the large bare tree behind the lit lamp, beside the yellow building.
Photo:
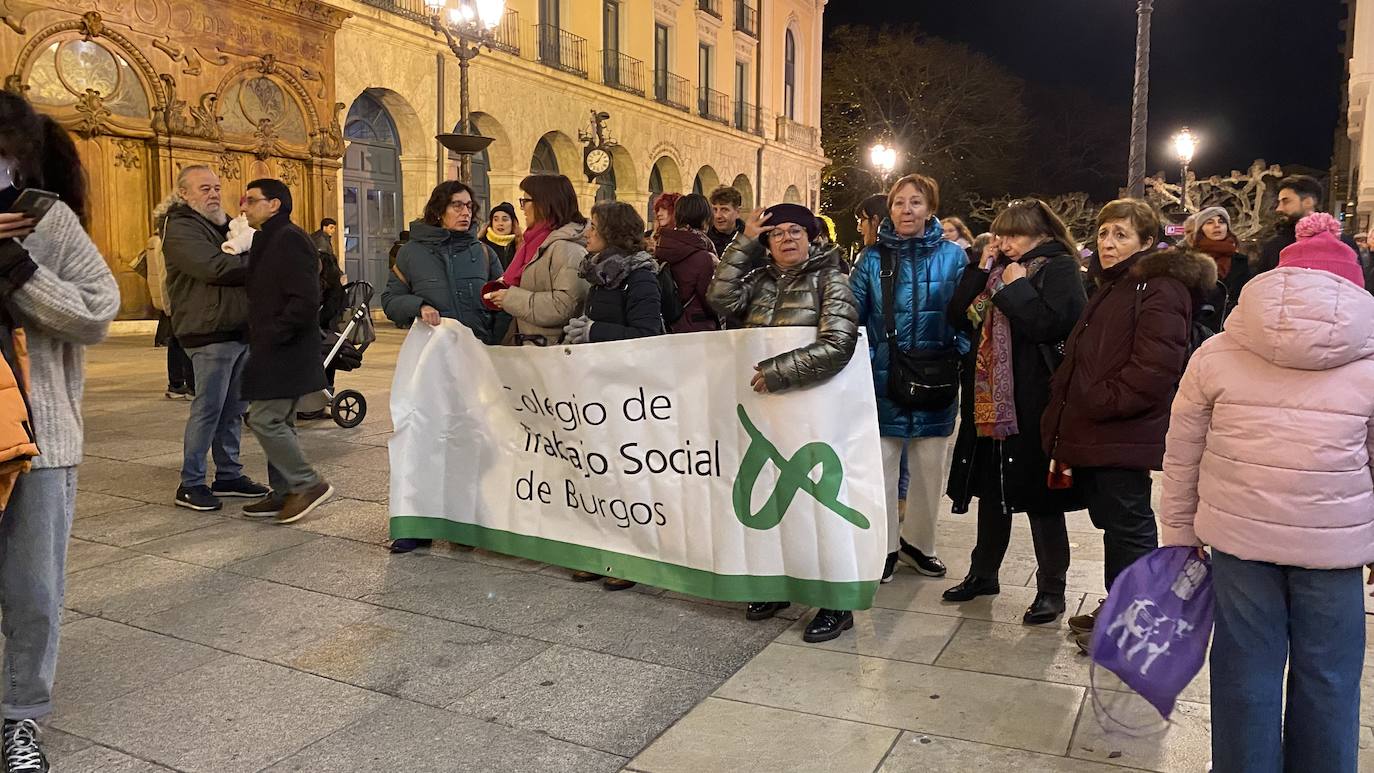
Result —
<svg viewBox="0 0 1374 773"><path fill-rule="evenodd" d="M914 27L835 29L822 85L826 209L848 213L878 191L867 165L878 141L896 146L897 174L934 177L947 202L1006 189L1026 130L1021 92L987 56Z"/></svg>

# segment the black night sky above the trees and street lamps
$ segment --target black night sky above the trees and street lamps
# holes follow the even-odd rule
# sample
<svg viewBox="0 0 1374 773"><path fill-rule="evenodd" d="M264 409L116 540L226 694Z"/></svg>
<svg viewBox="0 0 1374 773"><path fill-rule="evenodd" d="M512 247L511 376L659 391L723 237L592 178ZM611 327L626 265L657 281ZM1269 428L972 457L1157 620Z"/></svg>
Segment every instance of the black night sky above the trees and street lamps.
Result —
<svg viewBox="0 0 1374 773"><path fill-rule="evenodd" d="M1028 82L1073 85L1129 115L1134 0L844 0L826 27L915 22ZM1200 176L1250 161L1329 169L1344 88L1341 0L1156 0L1149 172L1178 162L1169 137L1202 137ZM1128 118L1127 118L1128 119ZM1125 176L1125 159L1121 159Z"/></svg>

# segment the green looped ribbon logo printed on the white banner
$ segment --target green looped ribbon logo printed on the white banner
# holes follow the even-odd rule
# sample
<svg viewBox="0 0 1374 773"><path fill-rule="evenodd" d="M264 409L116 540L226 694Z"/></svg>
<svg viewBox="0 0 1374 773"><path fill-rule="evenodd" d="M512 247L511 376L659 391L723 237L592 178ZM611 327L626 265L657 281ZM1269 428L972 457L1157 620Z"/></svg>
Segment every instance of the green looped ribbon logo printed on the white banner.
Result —
<svg viewBox="0 0 1374 773"><path fill-rule="evenodd" d="M840 501L840 486L845 481L844 464L835 449L823 442L812 442L797 449L791 459L785 459L758 427L749 420L749 413L743 405L736 405L739 423L749 432L749 450L739 463L739 474L735 476L735 518L749 529L767 531L782 523L782 516L787 514L791 500L797 492L807 492L818 503L830 508L840 518L853 523L859 529L868 529L868 519L852 507ZM778 486L774 493L758 508L758 512L749 511L749 500L753 497L754 485L764 465L772 461L778 467ZM813 481L811 471L820 467L820 479Z"/></svg>

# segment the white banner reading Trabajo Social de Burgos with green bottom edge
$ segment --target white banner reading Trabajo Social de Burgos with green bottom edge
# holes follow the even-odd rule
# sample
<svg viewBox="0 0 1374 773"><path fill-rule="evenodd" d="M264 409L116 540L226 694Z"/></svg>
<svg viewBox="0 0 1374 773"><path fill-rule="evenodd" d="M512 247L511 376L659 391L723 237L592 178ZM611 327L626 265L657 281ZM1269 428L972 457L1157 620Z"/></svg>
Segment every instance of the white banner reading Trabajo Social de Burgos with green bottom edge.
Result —
<svg viewBox="0 0 1374 773"><path fill-rule="evenodd" d="M392 387L392 537L708 599L868 608L888 537L866 342L823 384L749 387L756 362L815 335L510 347L416 324Z"/></svg>

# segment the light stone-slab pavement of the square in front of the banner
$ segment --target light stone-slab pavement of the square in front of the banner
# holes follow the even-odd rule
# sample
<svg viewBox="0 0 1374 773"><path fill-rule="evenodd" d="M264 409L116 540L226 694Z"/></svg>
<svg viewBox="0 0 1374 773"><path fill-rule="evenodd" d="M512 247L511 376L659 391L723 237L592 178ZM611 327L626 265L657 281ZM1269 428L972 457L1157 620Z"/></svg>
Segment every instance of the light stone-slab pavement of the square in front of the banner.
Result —
<svg viewBox="0 0 1374 773"><path fill-rule="evenodd" d="M367 395L365 422L302 427L339 497L284 527L236 504L172 507L188 404L162 397L165 351L150 335L89 351L55 770L1206 769L1205 673L1162 736L1107 736L1063 626L1020 625L1035 571L1022 524L999 597L948 605L951 581L903 568L853 632L820 645L801 643L809 610L750 623L741 604L606 593L447 544L389 555L401 334L379 334L338 380ZM243 461L265 478L247 432ZM1085 514L1070 530L1072 612L1099 597L1102 544ZM973 518L947 509L951 577L973 540ZM1374 669L1374 725L1370 685Z"/></svg>

